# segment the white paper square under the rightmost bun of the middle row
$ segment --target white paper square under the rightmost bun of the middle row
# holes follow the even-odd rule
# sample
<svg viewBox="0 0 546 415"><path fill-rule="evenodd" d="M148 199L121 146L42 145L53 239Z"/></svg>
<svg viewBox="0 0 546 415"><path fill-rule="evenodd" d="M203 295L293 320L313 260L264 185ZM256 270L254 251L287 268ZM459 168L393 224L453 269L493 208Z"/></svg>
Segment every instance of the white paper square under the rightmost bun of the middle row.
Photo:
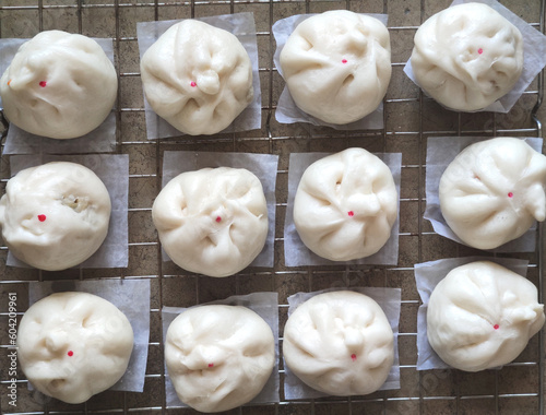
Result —
<svg viewBox="0 0 546 415"><path fill-rule="evenodd" d="M440 210L439 187L440 179L448 165L461 153L465 147L478 141L490 140L490 137L430 137L427 141L427 178L426 178L426 192L427 192L427 206L425 214L426 220L430 221L437 234L444 236L448 239L454 240L459 244L463 242L451 230ZM542 152L542 139L523 138L533 150L538 153ZM531 228L518 239L508 241L498 248L488 250L491 252L533 252L536 245L536 222Z"/></svg>

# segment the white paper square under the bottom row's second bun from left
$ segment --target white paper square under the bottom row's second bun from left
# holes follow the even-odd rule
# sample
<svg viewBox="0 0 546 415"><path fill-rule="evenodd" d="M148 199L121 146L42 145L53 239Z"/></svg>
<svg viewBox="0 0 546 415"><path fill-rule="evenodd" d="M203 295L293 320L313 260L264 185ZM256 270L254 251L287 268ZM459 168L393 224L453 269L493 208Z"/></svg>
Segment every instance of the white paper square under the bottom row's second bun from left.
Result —
<svg viewBox="0 0 546 415"><path fill-rule="evenodd" d="M254 399L245 405L258 405L262 403L278 402L278 294L277 293L252 293L242 296L232 296L226 299L206 303L193 307L207 306L213 304L228 305L228 306L244 306L254 311L269 324L273 331L275 339L275 365L271 372L271 377L263 387L262 391L254 396ZM190 307L190 308L193 308ZM167 330L178 315L186 311L188 308L177 307L163 307L163 344L166 343ZM168 374L167 366L165 365L165 374ZM167 407L188 407L180 401L176 394L175 387L170 381L169 376L165 376L165 394Z"/></svg>

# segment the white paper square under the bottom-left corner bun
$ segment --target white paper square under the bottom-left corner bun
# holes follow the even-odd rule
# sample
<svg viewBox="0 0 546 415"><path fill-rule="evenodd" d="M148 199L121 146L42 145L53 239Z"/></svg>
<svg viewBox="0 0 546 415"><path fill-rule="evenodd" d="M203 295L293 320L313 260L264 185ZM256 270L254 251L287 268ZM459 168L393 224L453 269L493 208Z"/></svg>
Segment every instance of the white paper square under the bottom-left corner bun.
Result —
<svg viewBox="0 0 546 415"><path fill-rule="evenodd" d="M54 293L81 292L114 304L128 318L134 334L133 351L126 374L109 390L142 392L150 341L150 280L93 280L31 282L28 304ZM28 383L29 389L33 389ZM39 393L36 391L36 393ZM40 393L44 400L48 400Z"/></svg>

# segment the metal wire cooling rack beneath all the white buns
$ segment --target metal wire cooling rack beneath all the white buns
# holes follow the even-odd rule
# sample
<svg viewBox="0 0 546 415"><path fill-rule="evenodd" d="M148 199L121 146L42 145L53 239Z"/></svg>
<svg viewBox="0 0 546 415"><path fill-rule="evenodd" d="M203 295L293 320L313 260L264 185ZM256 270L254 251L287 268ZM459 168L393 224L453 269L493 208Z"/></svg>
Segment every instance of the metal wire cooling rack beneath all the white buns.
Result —
<svg viewBox="0 0 546 415"><path fill-rule="evenodd" d="M544 0L508 0L502 3L535 28L544 32ZM502 370L465 374L458 370L417 371L416 318L419 297L415 287L415 263L442 258L466 257L476 251L436 235L423 220L425 209L426 140L435 135L542 137L539 106L542 75L533 82L508 115L458 114L424 97L402 72L411 55L413 36L422 22L447 8L450 0L214 0L214 1L124 1L124 0L0 0L0 37L32 37L44 29L64 29L92 37L114 38L119 73L116 153L130 156L129 268L38 272L5 266L7 248L0 249L0 400L1 412L22 414L139 413L189 414L191 410L166 407L163 369L161 309L188 307L235 294L277 292L280 325L287 315L287 296L329 287L378 286L402 288L400 324L401 389L366 396L286 401L281 388L278 404L245 406L233 414L536 414L543 412L544 346L535 336L512 364ZM306 124L278 124L274 110L283 87L273 66L275 48L271 27L293 14L331 9L388 13L392 44L392 80L384 100L384 129L334 131ZM136 22L187 19L237 12L253 12L258 31L262 128L246 133L210 138L147 141L139 73ZM4 129L5 132L5 129ZM396 266L308 266L286 268L283 225L287 200L288 157L294 152L336 152L361 146L373 152L403 153L401 190L400 259ZM3 141L2 141L3 150ZM227 278L186 274L162 263L157 235L151 220L152 202L161 189L162 154L166 150L271 153L280 155L276 191L275 265L269 270L245 270ZM3 188L10 177L9 157L0 159ZM529 254L529 277L539 286L544 276L544 239ZM151 337L145 388L142 393L104 392L81 405L44 400L27 390L17 370L16 406L9 405L11 377L8 375L8 293L15 293L17 317L28 307L29 281L58 278L149 278L152 284ZM5 330L4 330L5 328ZM282 340L282 331L281 331ZM284 371L281 365L281 384Z"/></svg>

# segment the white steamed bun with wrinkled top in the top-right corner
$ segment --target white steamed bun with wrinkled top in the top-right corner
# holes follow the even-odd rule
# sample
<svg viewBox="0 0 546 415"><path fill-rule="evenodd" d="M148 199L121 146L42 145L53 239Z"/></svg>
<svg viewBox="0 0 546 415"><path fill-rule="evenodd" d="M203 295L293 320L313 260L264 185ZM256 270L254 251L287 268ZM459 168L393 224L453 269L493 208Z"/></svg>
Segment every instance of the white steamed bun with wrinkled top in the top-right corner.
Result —
<svg viewBox="0 0 546 415"><path fill-rule="evenodd" d="M453 5L432 15L414 42L417 83L455 110L487 107L512 90L523 71L520 31L486 4Z"/></svg>

